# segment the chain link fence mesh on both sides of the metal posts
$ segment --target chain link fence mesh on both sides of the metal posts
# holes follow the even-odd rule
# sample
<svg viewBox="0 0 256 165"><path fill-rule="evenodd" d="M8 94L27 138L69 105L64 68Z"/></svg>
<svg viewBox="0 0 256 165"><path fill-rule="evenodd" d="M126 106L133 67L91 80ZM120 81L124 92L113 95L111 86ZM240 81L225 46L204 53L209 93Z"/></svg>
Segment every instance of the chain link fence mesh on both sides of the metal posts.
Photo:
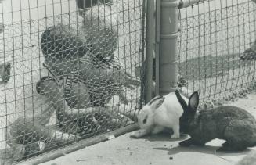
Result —
<svg viewBox="0 0 256 165"><path fill-rule="evenodd" d="M2 164L135 122L143 2L1 2ZM255 9L250 0L206 0L179 10L178 77L188 93L215 104L254 84Z"/></svg>

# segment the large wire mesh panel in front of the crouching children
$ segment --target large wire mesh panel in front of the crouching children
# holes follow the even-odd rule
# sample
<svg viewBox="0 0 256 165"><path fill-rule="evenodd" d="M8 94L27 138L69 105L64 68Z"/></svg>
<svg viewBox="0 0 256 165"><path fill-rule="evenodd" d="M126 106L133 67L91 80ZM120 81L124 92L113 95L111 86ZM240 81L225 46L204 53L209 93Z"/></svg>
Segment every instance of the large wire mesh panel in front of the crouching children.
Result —
<svg viewBox="0 0 256 165"><path fill-rule="evenodd" d="M134 123L143 1L0 3L1 163Z"/></svg>

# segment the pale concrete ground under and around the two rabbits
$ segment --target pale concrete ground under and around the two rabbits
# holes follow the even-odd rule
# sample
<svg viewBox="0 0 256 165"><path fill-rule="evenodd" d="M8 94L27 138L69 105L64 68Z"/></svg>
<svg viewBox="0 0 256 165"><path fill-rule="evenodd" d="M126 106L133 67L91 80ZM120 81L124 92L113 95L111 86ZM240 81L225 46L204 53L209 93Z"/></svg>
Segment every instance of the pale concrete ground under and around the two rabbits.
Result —
<svg viewBox="0 0 256 165"><path fill-rule="evenodd" d="M247 95L247 99L230 102L229 105L240 106L247 109L256 117L256 93ZM43 165L134 165L134 164L171 164L171 165L231 165L243 160L248 153L256 148L247 149L241 153L219 153L216 149L222 140L215 139L205 147L191 146L182 148L178 146L179 140L171 140L169 135L151 135L146 138L132 139L131 133L121 135L106 142L88 146L85 149L71 152ZM184 138L183 138L184 139ZM255 157L255 155L254 155ZM255 158L254 158L255 159ZM246 161L243 161L246 162ZM256 160L254 161L256 163ZM243 163L243 165L252 165Z"/></svg>

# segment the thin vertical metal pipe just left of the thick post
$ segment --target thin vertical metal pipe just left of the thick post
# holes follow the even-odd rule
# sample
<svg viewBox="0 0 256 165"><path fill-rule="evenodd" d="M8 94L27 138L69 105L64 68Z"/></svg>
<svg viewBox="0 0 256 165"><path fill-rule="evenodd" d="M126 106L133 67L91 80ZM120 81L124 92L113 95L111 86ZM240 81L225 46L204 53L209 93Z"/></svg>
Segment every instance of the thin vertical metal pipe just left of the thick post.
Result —
<svg viewBox="0 0 256 165"><path fill-rule="evenodd" d="M152 98L153 47L154 47L154 1L146 1L146 95L145 101Z"/></svg>

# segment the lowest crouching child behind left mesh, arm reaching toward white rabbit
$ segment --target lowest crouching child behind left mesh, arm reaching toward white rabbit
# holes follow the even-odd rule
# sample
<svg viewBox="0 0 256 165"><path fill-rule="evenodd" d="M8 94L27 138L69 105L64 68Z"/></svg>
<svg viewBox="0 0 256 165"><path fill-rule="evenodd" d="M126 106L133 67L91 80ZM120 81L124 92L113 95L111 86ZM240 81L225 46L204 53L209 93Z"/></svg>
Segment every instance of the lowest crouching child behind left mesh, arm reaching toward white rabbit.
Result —
<svg viewBox="0 0 256 165"><path fill-rule="evenodd" d="M72 89L72 91L77 89ZM83 88L85 91L86 88ZM91 136L106 132L107 129L121 124L117 112L110 106L90 106L90 99L85 99L85 109L71 109L65 99L65 89L59 87L53 77L42 77L36 84L36 91L40 94L38 99L40 107L33 109L33 113L26 112L26 117L16 119L9 124L6 132L6 141L11 147L9 157L20 160L34 156L52 146L74 142L81 136ZM83 93L83 98L88 92ZM78 97L78 95L76 95ZM56 123L50 124L51 117L56 113ZM128 119L124 119L127 122ZM45 146L41 149L39 144Z"/></svg>

